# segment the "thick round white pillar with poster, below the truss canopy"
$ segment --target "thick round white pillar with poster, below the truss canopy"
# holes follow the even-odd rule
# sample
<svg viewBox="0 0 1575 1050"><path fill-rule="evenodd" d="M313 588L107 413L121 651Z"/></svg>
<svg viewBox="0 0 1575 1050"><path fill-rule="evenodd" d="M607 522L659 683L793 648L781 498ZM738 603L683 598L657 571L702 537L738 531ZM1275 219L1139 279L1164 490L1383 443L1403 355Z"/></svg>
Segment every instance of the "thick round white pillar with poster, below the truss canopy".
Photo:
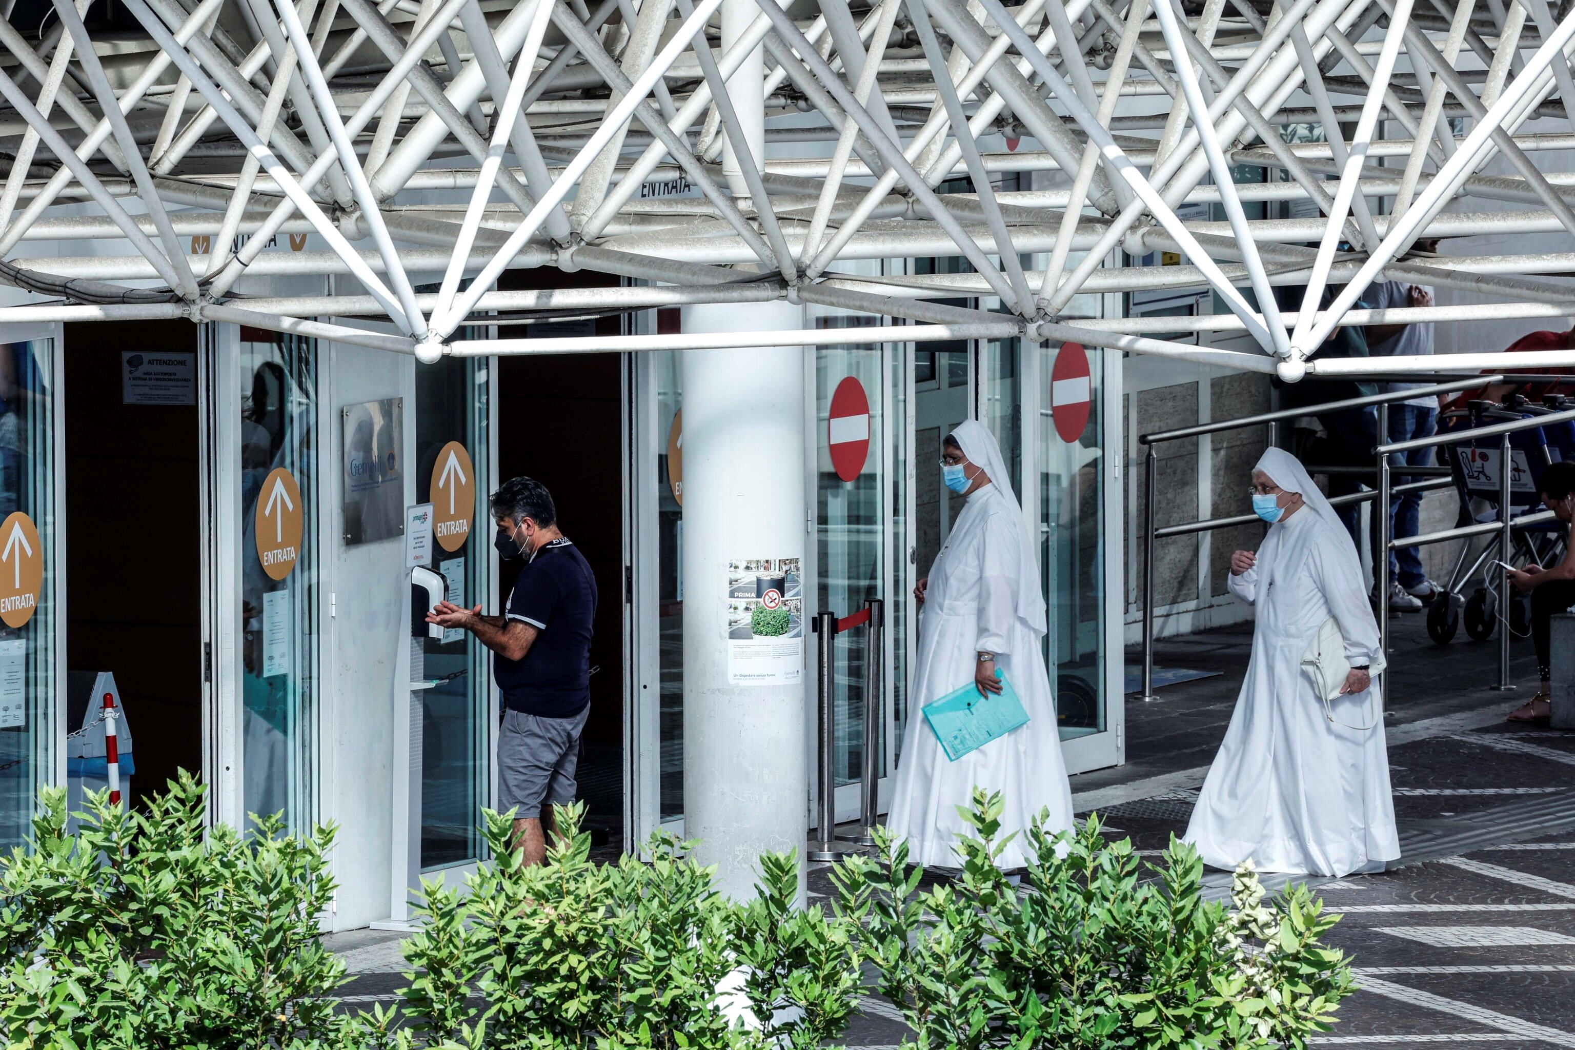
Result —
<svg viewBox="0 0 1575 1050"><path fill-rule="evenodd" d="M791 342L802 327L803 307L788 302L684 309L685 332L783 329ZM802 858L808 837L813 671L800 660L795 680L740 680L740 671L759 672L761 650L745 664L734 653L729 667L728 638L732 564L803 567L805 353L682 353L684 833L701 841L698 858L717 866L720 889L734 899L753 894L761 853ZM803 639L799 652L811 645Z"/></svg>

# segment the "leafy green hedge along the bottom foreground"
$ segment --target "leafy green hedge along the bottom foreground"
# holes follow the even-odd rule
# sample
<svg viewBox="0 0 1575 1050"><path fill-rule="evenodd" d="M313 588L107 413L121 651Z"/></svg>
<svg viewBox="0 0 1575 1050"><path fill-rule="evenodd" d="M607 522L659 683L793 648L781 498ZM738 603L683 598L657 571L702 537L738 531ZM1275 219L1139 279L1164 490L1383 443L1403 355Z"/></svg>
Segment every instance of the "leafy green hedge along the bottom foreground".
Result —
<svg viewBox="0 0 1575 1050"><path fill-rule="evenodd" d="M488 812L498 860L466 893L424 882L398 1003L350 1012L318 938L332 828L205 834L183 776L146 815L93 797L69 836L46 792L33 847L0 860L0 1028L28 1050L810 1050L869 992L925 1050L1304 1047L1332 1023L1351 973L1306 889L1266 902L1243 871L1228 907L1203 904L1189 847L1145 866L1096 820L1032 828L1014 885L1000 809L975 795L956 880L921 889L880 834L808 908L791 853L762 856L737 904L671 836L597 864L569 808L524 867Z"/></svg>

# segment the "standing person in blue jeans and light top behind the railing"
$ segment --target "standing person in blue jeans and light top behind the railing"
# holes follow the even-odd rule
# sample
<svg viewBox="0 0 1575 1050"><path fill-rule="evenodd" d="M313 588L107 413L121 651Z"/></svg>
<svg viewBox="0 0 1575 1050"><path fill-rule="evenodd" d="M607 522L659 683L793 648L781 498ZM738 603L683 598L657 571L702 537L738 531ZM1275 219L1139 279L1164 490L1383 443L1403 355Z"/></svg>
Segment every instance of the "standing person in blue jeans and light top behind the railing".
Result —
<svg viewBox="0 0 1575 1050"><path fill-rule="evenodd" d="M1424 255L1438 252L1438 241L1418 241L1416 250ZM1395 310L1405 307L1433 305L1433 290L1425 285L1408 285L1399 280L1375 283L1362 296L1372 310ZM1369 351L1373 357L1411 357L1433 353L1433 323L1418 324L1369 324L1364 329ZM1400 394L1425 387L1427 383L1388 383L1384 394ZM1413 441L1432 438L1438 431L1438 401L1430 395L1414 397L1389 405L1389 441ZM1432 449L1397 452L1391 466L1400 471L1406 466L1430 466ZM1419 480L1410 474L1397 474L1395 485ZM1416 535L1421 531L1422 494L1406 493L1389 501L1389 529L1395 538ZM1389 608L1395 612L1416 612L1440 593L1438 584L1427 578L1418 548L1406 546L1389 554Z"/></svg>

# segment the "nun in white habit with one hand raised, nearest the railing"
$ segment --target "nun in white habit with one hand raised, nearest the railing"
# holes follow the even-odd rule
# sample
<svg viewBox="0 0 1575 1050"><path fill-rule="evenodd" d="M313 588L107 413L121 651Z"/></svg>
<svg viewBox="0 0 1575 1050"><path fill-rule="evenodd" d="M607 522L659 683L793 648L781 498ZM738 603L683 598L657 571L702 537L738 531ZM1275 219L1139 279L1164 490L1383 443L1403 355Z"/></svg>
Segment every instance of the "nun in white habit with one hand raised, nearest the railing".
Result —
<svg viewBox="0 0 1575 1050"><path fill-rule="evenodd" d="M1378 623L1351 537L1307 469L1269 449L1252 471L1269 521L1257 554L1236 551L1230 590L1257 606L1252 660L1186 841L1205 864L1293 875L1381 871L1400 856L1384 752ZM1303 669L1329 619L1351 671L1325 704Z"/></svg>

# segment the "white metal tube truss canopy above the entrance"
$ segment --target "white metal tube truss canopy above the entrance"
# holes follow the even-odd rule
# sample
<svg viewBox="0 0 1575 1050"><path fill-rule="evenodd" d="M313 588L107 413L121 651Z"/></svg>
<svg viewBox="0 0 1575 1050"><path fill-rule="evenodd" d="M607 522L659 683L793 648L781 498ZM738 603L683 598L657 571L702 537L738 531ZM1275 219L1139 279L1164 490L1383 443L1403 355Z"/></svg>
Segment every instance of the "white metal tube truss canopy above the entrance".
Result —
<svg viewBox="0 0 1575 1050"><path fill-rule="evenodd" d="M32 299L0 321L184 316L432 362L775 346L468 326L788 299L888 320L806 345L1077 340L1287 381L1575 365L1318 354L1343 326L1575 315L1575 0L1008 2L11 0L0 282ZM279 235L317 239L263 252ZM951 264L850 266L893 258ZM539 290L499 290L531 268ZM342 294L249 280L282 274ZM1383 280L1473 299L1367 309ZM1228 313L1074 307L1161 290Z"/></svg>

